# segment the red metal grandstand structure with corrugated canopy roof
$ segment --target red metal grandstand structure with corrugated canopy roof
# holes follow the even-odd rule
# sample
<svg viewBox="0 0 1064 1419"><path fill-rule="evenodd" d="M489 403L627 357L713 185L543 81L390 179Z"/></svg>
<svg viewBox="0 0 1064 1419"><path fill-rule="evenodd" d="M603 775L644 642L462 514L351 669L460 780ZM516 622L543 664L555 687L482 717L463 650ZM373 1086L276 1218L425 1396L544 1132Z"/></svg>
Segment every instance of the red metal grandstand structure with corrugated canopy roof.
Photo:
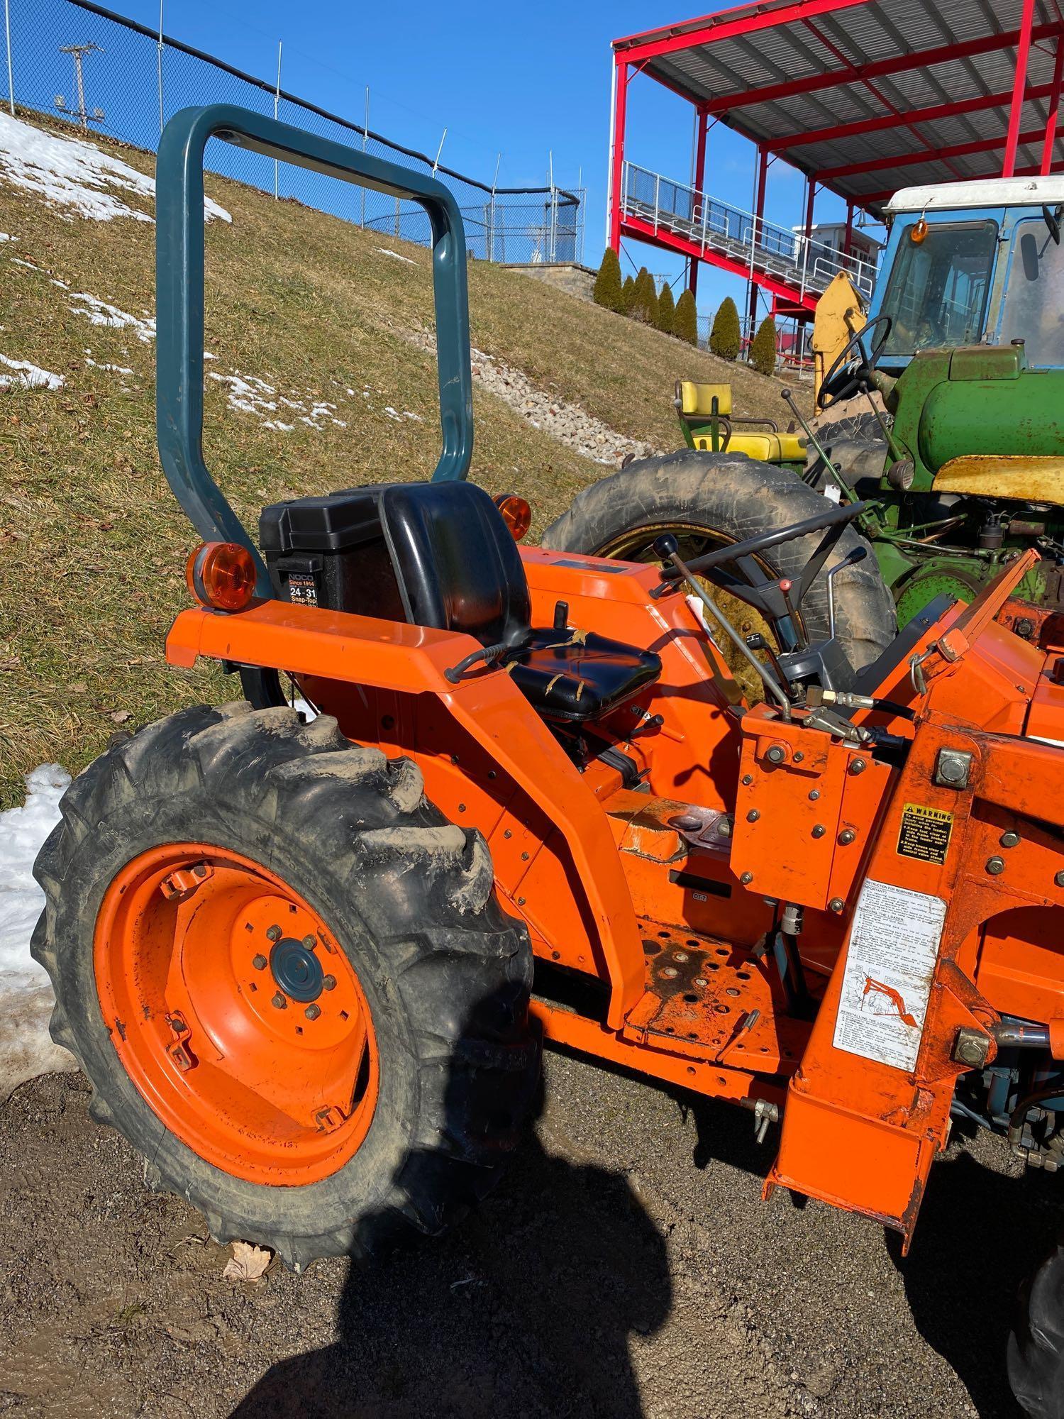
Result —
<svg viewBox="0 0 1064 1419"><path fill-rule="evenodd" d="M916 183L1064 170L1061 3L763 0L614 40L610 245L627 236L680 253L692 289L701 261L746 278L750 318L759 287L797 315L838 270L871 289L874 264L853 248L855 211L880 217ZM692 183L627 160L637 74L694 106ZM715 123L756 145L749 211L705 192ZM777 158L806 175L797 231L763 216ZM847 203L841 244L811 236L823 189Z"/></svg>

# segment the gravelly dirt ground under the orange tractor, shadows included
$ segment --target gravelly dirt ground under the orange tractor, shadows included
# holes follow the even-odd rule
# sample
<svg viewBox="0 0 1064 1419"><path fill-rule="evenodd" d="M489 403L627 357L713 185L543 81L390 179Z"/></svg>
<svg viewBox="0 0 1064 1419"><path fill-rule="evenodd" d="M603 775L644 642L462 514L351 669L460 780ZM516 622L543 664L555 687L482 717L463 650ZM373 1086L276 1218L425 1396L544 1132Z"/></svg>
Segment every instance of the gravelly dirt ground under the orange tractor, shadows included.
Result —
<svg viewBox="0 0 1064 1419"><path fill-rule="evenodd" d="M0 1413L145 1419L1014 1416L1054 1179L958 1141L912 1254L786 1195L749 1120L563 1054L502 1186L373 1270L223 1280L78 1074L0 1108Z"/></svg>

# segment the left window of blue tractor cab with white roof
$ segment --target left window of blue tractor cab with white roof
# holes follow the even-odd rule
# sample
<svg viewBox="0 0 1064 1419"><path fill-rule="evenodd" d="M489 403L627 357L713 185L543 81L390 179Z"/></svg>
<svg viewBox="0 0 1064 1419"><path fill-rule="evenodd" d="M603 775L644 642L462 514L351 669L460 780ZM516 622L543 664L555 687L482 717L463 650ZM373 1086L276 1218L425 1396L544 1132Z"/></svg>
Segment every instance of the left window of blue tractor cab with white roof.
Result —
<svg viewBox="0 0 1064 1419"><path fill-rule="evenodd" d="M914 241L915 219L902 228L881 312L891 318L884 355L976 345L983 336L996 221L931 224Z"/></svg>

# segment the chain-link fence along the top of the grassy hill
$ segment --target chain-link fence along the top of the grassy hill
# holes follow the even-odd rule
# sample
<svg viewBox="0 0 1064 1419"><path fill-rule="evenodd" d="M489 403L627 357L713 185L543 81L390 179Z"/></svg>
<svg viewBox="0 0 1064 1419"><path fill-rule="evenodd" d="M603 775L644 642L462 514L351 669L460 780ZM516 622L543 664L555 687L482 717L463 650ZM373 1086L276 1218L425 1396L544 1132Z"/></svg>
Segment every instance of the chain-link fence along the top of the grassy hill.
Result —
<svg viewBox="0 0 1064 1419"><path fill-rule="evenodd" d="M562 187L492 187L372 129L288 94L187 44L88 0L0 0L0 104L58 116L155 152L170 114L192 104L240 104L325 138L434 172L455 194L470 254L538 264L583 260L583 193ZM210 170L289 197L400 241L430 245L416 203L352 187L260 153L211 140Z"/></svg>

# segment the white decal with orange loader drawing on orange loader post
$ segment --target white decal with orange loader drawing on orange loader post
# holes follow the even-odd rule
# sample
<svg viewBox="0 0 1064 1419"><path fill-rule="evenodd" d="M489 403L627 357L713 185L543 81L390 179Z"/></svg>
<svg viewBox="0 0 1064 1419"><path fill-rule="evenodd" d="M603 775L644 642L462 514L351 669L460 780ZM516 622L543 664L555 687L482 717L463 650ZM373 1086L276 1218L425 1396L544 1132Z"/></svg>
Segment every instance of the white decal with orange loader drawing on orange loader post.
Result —
<svg viewBox="0 0 1064 1419"><path fill-rule="evenodd" d="M831 1042L837 1050L915 1069L945 917L941 897L865 881Z"/></svg>

